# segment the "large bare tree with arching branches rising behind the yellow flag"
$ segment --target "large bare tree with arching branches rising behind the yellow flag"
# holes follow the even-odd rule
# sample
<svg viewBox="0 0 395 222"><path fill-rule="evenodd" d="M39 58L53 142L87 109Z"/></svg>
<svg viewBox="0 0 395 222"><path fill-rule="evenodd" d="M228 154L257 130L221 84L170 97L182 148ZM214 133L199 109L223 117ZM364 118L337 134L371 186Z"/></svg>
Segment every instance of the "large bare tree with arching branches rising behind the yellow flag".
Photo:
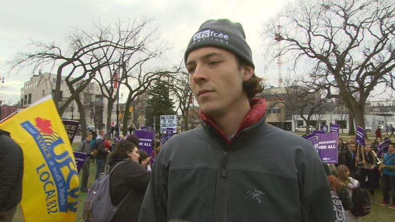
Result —
<svg viewBox="0 0 395 222"><path fill-rule="evenodd" d="M94 22L90 30L72 28L66 34L66 47L31 40L29 48L32 50L17 54L9 65L11 70L17 72L27 67L33 72L47 67L55 68L57 81L54 101L59 113L62 114L71 101L84 90L96 72L120 62L119 51L136 52L141 49L140 36L146 34L145 31L149 34L148 30L142 31L141 27L146 27L151 21L147 18L126 21L118 19L109 24ZM71 96L59 106L62 75L66 76L65 81ZM75 87L76 85L78 87ZM82 104L78 100L76 102L78 109L81 109Z"/></svg>

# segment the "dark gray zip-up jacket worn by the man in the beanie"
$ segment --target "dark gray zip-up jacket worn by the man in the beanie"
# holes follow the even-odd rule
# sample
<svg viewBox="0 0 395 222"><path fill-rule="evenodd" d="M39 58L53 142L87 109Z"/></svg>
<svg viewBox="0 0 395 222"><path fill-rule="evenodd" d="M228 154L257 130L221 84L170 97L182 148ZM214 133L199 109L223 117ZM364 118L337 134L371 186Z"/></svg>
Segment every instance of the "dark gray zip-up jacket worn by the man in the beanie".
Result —
<svg viewBox="0 0 395 222"><path fill-rule="evenodd" d="M334 221L320 158L265 122L231 145L213 127L183 132L155 160L139 221Z"/></svg>

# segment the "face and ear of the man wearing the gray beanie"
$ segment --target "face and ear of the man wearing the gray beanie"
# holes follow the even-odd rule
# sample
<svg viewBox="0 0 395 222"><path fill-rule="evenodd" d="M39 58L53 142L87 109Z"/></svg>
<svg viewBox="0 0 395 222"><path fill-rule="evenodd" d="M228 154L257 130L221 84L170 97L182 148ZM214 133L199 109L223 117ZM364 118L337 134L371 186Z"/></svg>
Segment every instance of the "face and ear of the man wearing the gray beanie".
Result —
<svg viewBox="0 0 395 222"><path fill-rule="evenodd" d="M188 55L186 69L189 85L205 114L219 116L248 100L243 81L249 80L254 70L249 66L239 69L232 53L214 47L194 50Z"/></svg>

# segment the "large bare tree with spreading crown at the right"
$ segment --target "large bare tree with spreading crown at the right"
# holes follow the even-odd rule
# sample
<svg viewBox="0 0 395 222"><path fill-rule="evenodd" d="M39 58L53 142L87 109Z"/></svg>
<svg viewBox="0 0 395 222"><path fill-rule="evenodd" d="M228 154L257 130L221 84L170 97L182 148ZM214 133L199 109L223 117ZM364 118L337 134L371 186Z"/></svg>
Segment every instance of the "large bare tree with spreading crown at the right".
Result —
<svg viewBox="0 0 395 222"><path fill-rule="evenodd" d="M293 68L310 64L306 84L325 88L345 102L364 127L364 107L373 89L394 89L393 0L300 0L264 25L267 65L279 56ZM278 32L281 25L282 32ZM278 52L281 41L281 54ZM287 59L286 59L287 60Z"/></svg>

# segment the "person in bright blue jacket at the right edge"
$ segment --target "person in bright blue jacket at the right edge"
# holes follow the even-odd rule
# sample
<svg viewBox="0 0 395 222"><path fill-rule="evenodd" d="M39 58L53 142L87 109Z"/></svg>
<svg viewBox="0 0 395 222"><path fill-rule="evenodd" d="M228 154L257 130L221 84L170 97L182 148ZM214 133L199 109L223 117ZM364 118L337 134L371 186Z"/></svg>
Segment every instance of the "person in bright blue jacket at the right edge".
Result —
<svg viewBox="0 0 395 222"><path fill-rule="evenodd" d="M388 153L384 154L384 158L380 165L383 183L383 202L380 205L389 205L390 196L389 189L392 193L392 204L389 205L390 209L395 209L395 144L390 142L388 145Z"/></svg>

